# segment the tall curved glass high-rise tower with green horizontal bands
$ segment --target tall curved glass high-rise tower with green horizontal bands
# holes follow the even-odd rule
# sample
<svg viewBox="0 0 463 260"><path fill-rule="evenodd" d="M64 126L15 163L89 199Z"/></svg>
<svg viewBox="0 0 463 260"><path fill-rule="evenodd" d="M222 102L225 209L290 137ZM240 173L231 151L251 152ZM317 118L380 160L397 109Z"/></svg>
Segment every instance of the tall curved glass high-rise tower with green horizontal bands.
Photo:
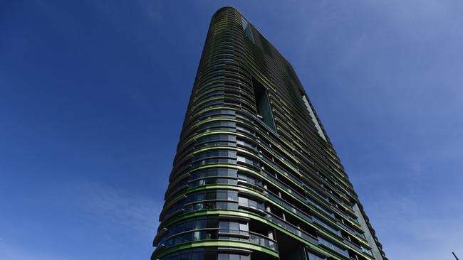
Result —
<svg viewBox="0 0 463 260"><path fill-rule="evenodd" d="M231 7L207 33L152 259L387 260L306 92Z"/></svg>

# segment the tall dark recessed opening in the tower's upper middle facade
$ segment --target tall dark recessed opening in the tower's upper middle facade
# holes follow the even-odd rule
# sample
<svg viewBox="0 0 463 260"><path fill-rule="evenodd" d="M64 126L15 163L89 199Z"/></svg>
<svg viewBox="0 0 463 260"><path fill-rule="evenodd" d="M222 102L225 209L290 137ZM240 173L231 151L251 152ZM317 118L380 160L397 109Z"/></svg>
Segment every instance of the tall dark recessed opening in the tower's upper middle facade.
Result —
<svg viewBox="0 0 463 260"><path fill-rule="evenodd" d="M271 112L269 94L267 94L266 88L254 77L252 77L252 87L256 99L257 117L264 121L270 129L276 131L274 114Z"/></svg>

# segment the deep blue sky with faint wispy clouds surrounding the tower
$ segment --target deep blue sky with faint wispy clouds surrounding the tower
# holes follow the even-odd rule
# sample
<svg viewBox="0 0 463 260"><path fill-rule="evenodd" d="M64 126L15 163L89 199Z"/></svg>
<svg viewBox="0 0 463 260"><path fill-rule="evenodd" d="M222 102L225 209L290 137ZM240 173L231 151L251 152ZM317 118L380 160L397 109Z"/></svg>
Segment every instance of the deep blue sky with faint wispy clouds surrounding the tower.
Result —
<svg viewBox="0 0 463 260"><path fill-rule="evenodd" d="M212 13L293 64L391 260L463 257L463 2L1 1L0 259L149 259Z"/></svg>

